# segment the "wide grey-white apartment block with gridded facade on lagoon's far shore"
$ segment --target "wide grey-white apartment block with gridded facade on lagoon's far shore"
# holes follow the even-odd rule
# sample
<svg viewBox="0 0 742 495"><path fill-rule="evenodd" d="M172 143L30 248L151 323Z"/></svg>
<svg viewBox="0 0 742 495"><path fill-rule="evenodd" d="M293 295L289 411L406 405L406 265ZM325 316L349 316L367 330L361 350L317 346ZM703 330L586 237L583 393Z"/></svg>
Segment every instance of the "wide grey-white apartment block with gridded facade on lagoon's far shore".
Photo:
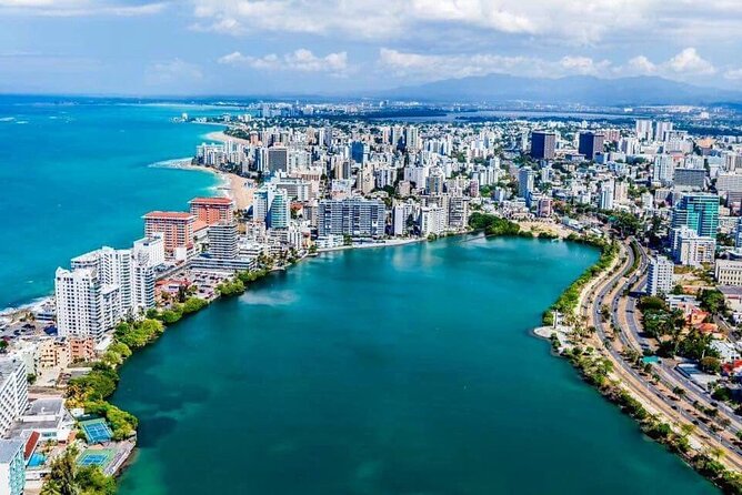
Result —
<svg viewBox="0 0 742 495"><path fill-rule="evenodd" d="M380 238L385 232L387 210L379 200L322 200L317 219L320 236Z"/></svg>

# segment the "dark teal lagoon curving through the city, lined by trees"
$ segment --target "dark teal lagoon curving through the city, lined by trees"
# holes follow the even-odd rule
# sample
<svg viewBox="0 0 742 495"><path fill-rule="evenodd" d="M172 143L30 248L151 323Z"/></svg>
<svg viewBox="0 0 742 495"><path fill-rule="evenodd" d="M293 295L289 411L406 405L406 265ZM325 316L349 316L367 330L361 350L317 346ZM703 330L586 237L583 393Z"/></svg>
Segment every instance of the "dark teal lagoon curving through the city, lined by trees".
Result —
<svg viewBox="0 0 742 495"><path fill-rule="evenodd" d="M596 260L520 239L308 260L121 370L122 495L709 494L529 334Z"/></svg>

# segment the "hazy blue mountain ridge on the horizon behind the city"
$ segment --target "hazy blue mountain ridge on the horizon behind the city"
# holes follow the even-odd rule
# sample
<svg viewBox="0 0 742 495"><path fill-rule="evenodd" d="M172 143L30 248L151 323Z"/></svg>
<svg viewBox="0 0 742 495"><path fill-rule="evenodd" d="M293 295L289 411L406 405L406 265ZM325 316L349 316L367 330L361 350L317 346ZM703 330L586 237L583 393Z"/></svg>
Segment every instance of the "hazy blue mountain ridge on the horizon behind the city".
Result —
<svg viewBox="0 0 742 495"><path fill-rule="evenodd" d="M742 91L699 87L656 77L599 79L591 75L535 79L488 74L398 88L383 91L379 97L447 102L529 101L610 107L742 102Z"/></svg>

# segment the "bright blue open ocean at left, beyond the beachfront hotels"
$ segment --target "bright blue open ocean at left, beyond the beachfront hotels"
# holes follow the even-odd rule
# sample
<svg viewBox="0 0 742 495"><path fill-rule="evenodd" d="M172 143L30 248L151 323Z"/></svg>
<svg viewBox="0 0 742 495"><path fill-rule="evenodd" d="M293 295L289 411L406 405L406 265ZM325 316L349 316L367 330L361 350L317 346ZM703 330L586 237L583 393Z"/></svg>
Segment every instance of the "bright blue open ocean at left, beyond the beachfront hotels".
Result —
<svg viewBox="0 0 742 495"><path fill-rule="evenodd" d="M0 97L0 310L47 295L87 250L129 245L149 210L183 210L217 176L152 164L188 158L211 125L200 107Z"/></svg>

